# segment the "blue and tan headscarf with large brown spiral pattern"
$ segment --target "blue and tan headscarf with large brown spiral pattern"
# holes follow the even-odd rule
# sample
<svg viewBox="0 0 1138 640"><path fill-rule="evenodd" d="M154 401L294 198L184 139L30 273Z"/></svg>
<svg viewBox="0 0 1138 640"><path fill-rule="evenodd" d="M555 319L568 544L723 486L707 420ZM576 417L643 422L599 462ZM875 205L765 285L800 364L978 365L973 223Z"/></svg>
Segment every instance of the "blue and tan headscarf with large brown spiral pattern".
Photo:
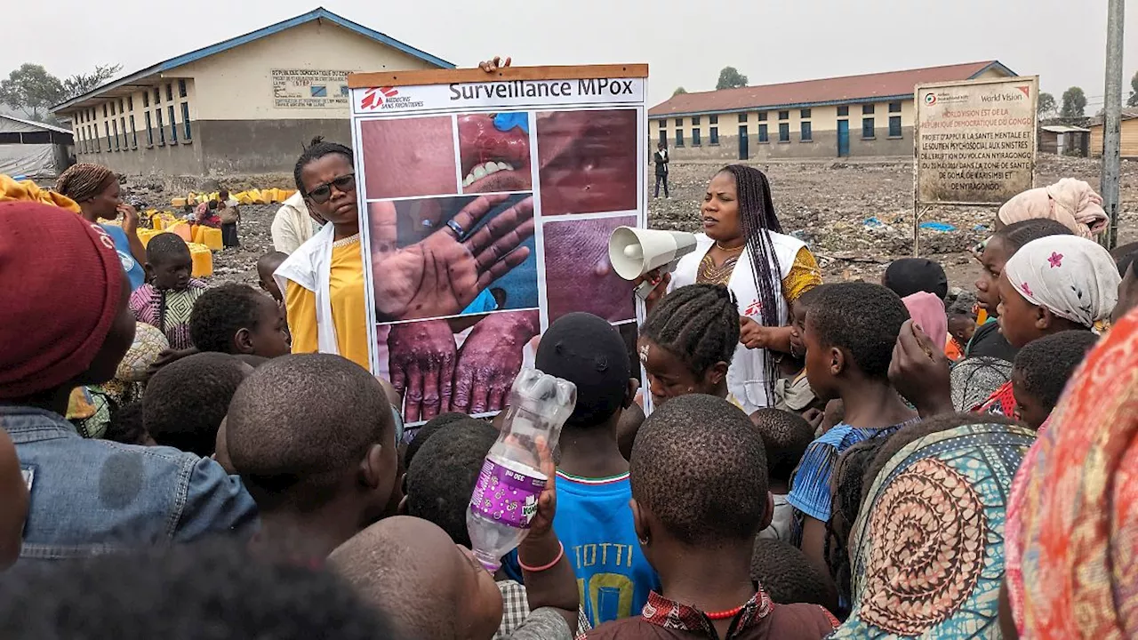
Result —
<svg viewBox="0 0 1138 640"><path fill-rule="evenodd" d="M1033 440L967 425L893 456L853 525L855 606L833 638L1000 638L1004 510Z"/></svg>

